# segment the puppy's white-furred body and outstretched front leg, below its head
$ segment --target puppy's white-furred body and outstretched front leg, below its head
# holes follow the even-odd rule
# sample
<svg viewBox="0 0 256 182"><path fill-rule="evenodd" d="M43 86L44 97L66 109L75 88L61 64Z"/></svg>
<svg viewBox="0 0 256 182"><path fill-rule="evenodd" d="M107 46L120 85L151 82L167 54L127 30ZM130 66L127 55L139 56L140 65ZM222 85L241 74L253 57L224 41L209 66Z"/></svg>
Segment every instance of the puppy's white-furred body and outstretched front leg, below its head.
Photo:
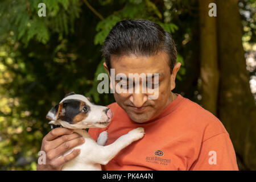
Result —
<svg viewBox="0 0 256 182"><path fill-rule="evenodd" d="M72 148L64 154L70 154L74 149L80 148L81 153L73 160L63 166L63 171L101 171L101 165L106 165L114 158L123 148L141 139L144 136L144 129L138 127L137 129L129 131L129 133L122 135L114 143L108 146L101 146L97 144L85 130L74 130L76 133L85 138L85 143Z"/></svg>

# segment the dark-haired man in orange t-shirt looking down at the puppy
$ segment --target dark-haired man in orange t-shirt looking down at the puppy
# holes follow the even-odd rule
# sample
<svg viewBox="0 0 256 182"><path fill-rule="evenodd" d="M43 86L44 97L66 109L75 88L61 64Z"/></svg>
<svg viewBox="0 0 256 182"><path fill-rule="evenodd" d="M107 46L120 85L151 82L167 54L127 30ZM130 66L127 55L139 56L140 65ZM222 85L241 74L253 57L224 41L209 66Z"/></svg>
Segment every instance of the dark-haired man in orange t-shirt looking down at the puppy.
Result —
<svg viewBox="0 0 256 182"><path fill-rule="evenodd" d="M107 130L106 145L136 127L143 127L146 133L102 169L238 170L232 142L222 123L195 102L171 92L181 64L176 63L175 43L167 31L148 20L123 20L110 31L102 52L109 74L114 69L115 75L122 73L129 81L134 81L129 73L159 76L158 80L147 80L146 85L158 88L157 98L150 99L152 92L141 92L142 81L137 85L139 92L115 92L116 102L109 105L114 113L112 123L105 129L89 129L95 140ZM114 89L120 81L110 77L110 87ZM128 90L130 85L121 87ZM82 142L70 130L52 130L44 137L41 149L47 153L47 164L38 169L61 169L79 151L57 156Z"/></svg>

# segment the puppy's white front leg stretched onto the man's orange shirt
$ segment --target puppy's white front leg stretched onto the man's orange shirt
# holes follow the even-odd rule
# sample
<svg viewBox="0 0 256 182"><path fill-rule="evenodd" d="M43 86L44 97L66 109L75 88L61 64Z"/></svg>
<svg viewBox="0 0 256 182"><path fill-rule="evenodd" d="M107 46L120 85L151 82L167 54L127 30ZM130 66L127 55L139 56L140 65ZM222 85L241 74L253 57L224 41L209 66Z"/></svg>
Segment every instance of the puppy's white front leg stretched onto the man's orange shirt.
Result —
<svg viewBox="0 0 256 182"><path fill-rule="evenodd" d="M103 160L99 163L106 165L108 162L114 158L115 155L118 154L123 148L127 147L132 142L141 139L144 136L143 127L138 127L137 129L133 129L129 131L129 133L122 135L114 143L109 144L108 146L104 146L101 149L101 156Z"/></svg>

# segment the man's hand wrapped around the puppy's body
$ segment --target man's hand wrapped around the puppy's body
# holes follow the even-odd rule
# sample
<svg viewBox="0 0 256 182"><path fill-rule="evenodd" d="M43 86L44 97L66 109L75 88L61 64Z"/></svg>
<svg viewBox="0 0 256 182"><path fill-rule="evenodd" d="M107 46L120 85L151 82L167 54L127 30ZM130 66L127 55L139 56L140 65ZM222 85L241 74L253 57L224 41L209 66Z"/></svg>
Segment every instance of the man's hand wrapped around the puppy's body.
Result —
<svg viewBox="0 0 256 182"><path fill-rule="evenodd" d="M63 165L80 154L80 149L61 156L73 147L84 143L85 139L73 130L58 127L51 130L42 142L41 150L46 152L46 164L38 164L38 170L61 170ZM59 156L61 156L59 158Z"/></svg>

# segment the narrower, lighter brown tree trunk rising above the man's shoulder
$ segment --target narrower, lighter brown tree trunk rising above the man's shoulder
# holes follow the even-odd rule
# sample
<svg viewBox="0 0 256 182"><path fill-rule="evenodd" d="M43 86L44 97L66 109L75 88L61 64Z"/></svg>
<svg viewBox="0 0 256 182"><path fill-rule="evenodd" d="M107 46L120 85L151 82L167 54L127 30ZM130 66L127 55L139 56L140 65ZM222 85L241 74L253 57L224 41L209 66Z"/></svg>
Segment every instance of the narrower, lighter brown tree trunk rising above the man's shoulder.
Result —
<svg viewBox="0 0 256 182"><path fill-rule="evenodd" d="M214 115L218 97L218 56L216 17L208 15L209 4L215 0L200 0L200 76L202 80L201 105Z"/></svg>

